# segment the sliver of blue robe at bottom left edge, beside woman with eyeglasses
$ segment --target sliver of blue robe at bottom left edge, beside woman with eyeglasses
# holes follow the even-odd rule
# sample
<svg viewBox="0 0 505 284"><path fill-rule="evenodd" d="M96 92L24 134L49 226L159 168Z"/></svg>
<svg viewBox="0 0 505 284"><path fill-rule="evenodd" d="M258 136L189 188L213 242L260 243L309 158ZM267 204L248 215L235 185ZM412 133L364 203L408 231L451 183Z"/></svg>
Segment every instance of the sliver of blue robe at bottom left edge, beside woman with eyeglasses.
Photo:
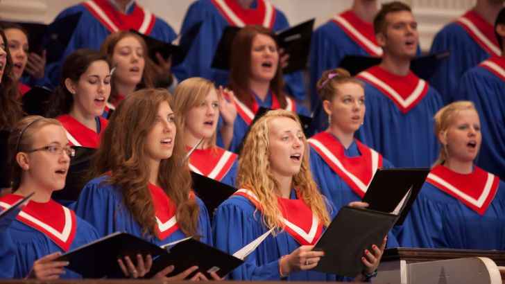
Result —
<svg viewBox="0 0 505 284"><path fill-rule="evenodd" d="M14 243L10 237L10 231L8 230L12 221L12 218L8 217L4 217L0 220L0 264L11 264L1 265L0 279L12 278L14 275L14 265L12 265L12 263L15 263L16 254Z"/></svg>

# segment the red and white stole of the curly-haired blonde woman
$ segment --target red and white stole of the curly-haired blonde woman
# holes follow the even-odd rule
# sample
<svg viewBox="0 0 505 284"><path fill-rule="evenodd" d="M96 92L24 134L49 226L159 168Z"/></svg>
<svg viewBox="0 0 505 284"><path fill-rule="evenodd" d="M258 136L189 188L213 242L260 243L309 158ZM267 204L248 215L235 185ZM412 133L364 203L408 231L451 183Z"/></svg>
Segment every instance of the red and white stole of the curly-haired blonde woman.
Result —
<svg viewBox="0 0 505 284"><path fill-rule="evenodd" d="M241 188L234 195L246 197L259 211L262 211L259 199L253 191ZM312 213L311 208L302 199L277 197L277 201L282 212L281 220L285 225L284 230L300 245L315 245L323 233L323 224L316 214Z"/></svg>

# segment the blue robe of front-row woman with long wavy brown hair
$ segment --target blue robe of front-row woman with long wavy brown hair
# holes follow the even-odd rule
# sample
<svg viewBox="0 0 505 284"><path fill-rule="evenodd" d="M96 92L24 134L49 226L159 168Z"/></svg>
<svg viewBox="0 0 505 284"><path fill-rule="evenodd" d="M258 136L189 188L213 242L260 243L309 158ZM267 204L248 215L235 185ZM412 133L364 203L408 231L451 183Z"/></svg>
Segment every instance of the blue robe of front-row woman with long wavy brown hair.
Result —
<svg viewBox="0 0 505 284"><path fill-rule="evenodd" d="M87 222L91 223L98 231L99 236L123 231L133 236L144 238L155 245L165 245L182 238L187 238L180 229L171 233L164 240L152 235L144 235L142 227L133 218L123 203L123 195L119 188L107 184L108 177L97 177L89 181L80 193L76 205L76 213ZM203 202L196 197L200 207L198 217L198 230L200 241L212 245L209 215Z"/></svg>

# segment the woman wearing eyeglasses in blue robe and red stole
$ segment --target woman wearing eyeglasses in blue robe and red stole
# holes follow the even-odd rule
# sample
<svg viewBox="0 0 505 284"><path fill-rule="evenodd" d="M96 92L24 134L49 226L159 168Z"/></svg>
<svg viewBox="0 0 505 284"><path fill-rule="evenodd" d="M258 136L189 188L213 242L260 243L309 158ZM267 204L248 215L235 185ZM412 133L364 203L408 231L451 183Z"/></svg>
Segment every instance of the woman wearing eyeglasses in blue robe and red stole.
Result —
<svg viewBox="0 0 505 284"><path fill-rule="evenodd" d="M35 193L16 220L8 227L16 261L0 251L0 267L12 267L12 278L80 278L65 269L67 262L55 261L62 253L86 245L98 238L96 230L74 211L51 199L55 190L65 186L70 148L65 129L59 121L42 116L27 116L19 121L9 136L13 193L0 198L4 210L30 193ZM1 240L3 242L3 240ZM142 261L140 261L142 260ZM130 260L124 260L130 265ZM151 260L142 257L135 269L150 268Z"/></svg>

